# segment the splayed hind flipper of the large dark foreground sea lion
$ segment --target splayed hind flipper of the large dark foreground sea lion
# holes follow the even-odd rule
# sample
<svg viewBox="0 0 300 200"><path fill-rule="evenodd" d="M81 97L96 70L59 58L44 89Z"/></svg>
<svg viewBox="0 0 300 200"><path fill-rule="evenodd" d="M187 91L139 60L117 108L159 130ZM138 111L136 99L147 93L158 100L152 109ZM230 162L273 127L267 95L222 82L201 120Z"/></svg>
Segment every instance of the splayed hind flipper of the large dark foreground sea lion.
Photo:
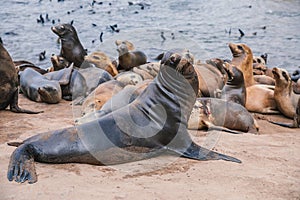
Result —
<svg viewBox="0 0 300 200"><path fill-rule="evenodd" d="M7 178L9 181L15 180L18 183L37 182L34 159L29 145L23 144L13 152L10 157Z"/></svg>

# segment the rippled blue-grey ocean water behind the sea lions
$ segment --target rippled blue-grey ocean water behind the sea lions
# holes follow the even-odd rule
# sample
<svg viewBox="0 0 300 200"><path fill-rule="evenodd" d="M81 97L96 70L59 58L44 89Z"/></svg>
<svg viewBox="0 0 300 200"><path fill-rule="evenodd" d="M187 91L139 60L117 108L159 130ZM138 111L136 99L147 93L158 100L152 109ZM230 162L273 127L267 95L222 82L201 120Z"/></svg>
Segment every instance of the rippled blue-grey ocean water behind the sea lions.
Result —
<svg viewBox="0 0 300 200"><path fill-rule="evenodd" d="M14 60L51 66L60 44L51 26L70 23L88 52L117 58L114 41L127 39L149 60L164 50L187 48L197 59L231 59L228 43L268 54L269 67L300 66L300 0L10 0L0 4L0 37ZM38 23L40 15L45 23ZM46 19L48 16L48 20ZM110 26L116 25L119 32ZM239 29L245 36L240 37ZM100 34L103 33L103 41ZM163 34L162 38L161 34ZM39 53L46 59L39 61Z"/></svg>

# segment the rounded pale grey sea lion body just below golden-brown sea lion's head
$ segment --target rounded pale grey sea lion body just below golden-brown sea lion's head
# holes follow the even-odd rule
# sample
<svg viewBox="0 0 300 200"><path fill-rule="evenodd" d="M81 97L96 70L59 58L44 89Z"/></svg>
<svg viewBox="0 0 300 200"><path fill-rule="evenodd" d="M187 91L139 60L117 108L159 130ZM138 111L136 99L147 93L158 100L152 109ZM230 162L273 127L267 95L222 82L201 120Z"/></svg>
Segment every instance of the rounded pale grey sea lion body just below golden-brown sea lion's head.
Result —
<svg viewBox="0 0 300 200"><path fill-rule="evenodd" d="M90 66L79 70L87 85L87 94L90 94L98 85L114 78L105 70Z"/></svg>

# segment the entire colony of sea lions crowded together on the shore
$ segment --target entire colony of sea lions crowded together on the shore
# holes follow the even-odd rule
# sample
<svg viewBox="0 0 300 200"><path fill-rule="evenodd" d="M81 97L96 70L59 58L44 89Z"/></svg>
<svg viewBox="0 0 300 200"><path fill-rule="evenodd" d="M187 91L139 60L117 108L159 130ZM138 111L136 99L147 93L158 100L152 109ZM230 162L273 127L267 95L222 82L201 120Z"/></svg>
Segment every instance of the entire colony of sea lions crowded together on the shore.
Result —
<svg viewBox="0 0 300 200"><path fill-rule="evenodd" d="M232 60L214 58L201 63L194 60L189 50L173 49L163 52L161 60L147 62L142 51L133 51L134 45L131 42L117 40L115 44L119 53L121 48L131 55L126 61L123 54L114 60L104 52L87 55L76 29L70 24L60 24L53 27L52 31L62 42L60 54L52 56L53 66L48 69L48 73L27 61L13 62L1 44L0 77L4 77L0 85L1 109L10 105L15 112L38 113L18 107L17 94L20 87L24 95L37 102L58 103L66 95L64 99L82 105L82 118L76 120L76 128L50 131L21 143L9 143L17 146L9 164L7 176L10 181L36 182L34 161L117 164L171 151L197 160L240 162L236 158L198 146L191 140L187 129L257 133L259 127L249 111L286 115L282 110L284 106L279 105L280 109L276 107L278 99L283 99L277 88L282 86L278 86L278 80L276 82L281 71L275 68L273 73L267 73L270 71L266 66L267 56L254 57L246 44L229 44ZM103 63L101 58L104 58ZM126 62L126 67L119 62ZM21 68L20 63L26 65ZM256 81L259 80L255 79L256 75L268 76L272 80L275 77L276 99L274 85ZM292 81L287 72L284 72L283 77L289 85L298 81ZM291 90L292 86L289 86L289 94ZM297 95L293 92L293 99L298 100ZM287 117L293 118L294 123L288 127L299 127L299 101L289 107L292 110L288 111ZM282 100L280 103L283 104ZM240 119L236 118L237 113L242 113ZM88 141L89 137L100 134L108 139L107 143L97 143L100 149L92 148L97 155L101 154L101 159L82 145L80 137L80 131L93 129L95 123L100 124L103 130L100 133L93 130L92 136L85 137ZM142 132L137 125L145 126ZM64 144L57 147L57 141L63 141ZM121 149L140 146L150 150L147 155L136 158L129 156L130 159L122 155L124 159L120 160L118 155L117 160L112 155L118 151L109 153L113 146Z"/></svg>

